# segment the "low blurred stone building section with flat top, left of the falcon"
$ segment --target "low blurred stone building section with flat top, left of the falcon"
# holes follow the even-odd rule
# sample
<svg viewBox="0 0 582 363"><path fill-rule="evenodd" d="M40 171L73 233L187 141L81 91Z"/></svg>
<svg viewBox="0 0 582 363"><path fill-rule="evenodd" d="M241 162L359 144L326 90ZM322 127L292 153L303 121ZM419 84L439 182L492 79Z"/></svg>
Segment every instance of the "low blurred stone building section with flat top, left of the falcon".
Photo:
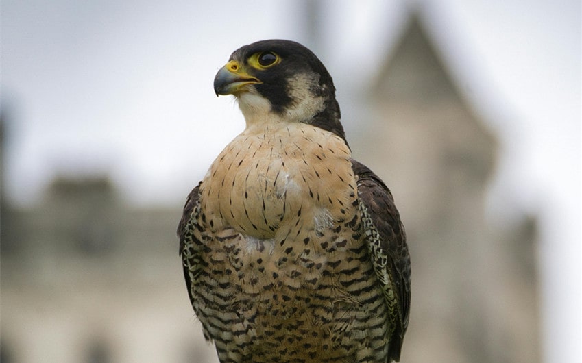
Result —
<svg viewBox="0 0 582 363"><path fill-rule="evenodd" d="M184 289L179 218L123 205L105 177L53 182L2 251L1 362L215 362Z"/></svg>

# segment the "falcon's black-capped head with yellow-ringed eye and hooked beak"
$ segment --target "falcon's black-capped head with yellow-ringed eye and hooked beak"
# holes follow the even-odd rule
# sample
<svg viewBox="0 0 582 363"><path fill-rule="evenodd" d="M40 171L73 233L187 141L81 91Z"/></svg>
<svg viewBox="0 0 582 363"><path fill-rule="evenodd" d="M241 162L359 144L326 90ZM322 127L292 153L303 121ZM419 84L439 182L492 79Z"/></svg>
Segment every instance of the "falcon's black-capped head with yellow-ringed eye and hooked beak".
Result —
<svg viewBox="0 0 582 363"><path fill-rule="evenodd" d="M290 40L245 45L214 80L217 95L234 95L247 127L264 122L301 122L345 140L333 80L309 49Z"/></svg>

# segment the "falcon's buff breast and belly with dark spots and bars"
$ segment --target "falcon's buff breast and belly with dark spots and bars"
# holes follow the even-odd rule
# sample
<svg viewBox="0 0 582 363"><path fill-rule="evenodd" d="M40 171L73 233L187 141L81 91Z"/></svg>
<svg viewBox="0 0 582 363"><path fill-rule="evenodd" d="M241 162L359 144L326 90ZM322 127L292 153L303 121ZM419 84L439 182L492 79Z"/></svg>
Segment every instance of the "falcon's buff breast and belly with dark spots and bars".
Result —
<svg viewBox="0 0 582 363"><path fill-rule="evenodd" d="M222 362L356 362L384 353L385 304L340 138L304 124L247 130L198 192L196 243L184 253L198 266L190 293ZM363 319L371 312L377 331Z"/></svg>

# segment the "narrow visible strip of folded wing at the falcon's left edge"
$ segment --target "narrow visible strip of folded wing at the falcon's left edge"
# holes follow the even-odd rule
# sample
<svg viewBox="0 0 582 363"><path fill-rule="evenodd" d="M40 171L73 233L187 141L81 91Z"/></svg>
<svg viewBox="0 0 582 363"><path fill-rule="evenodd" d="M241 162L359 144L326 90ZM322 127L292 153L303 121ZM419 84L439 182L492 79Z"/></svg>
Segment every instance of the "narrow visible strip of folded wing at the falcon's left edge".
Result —
<svg viewBox="0 0 582 363"><path fill-rule="evenodd" d="M195 223L197 220L197 210L199 209L199 198L200 198L200 184L198 184L186 198L186 204L184 205L184 212L180 223L178 224L178 237L180 238L180 257L182 257L182 265L184 268L184 279L186 280L186 287L188 288L188 295L190 297L190 302L194 302L192 295L192 271L196 271L195 266L191 266L199 258L197 258L197 248L195 243L195 237L193 236L193 228L195 228Z"/></svg>

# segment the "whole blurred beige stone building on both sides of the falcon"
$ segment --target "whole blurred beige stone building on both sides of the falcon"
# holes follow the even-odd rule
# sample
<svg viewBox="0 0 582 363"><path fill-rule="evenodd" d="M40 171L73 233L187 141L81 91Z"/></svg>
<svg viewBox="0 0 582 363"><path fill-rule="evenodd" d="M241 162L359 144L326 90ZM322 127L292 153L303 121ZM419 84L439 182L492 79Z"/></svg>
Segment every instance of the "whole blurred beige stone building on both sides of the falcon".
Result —
<svg viewBox="0 0 582 363"><path fill-rule="evenodd" d="M412 17L348 136L407 227L402 362L539 362L535 220L485 221L496 139L430 39ZM60 177L27 210L3 200L1 362L217 362L184 288L181 208L130 208L99 175Z"/></svg>

